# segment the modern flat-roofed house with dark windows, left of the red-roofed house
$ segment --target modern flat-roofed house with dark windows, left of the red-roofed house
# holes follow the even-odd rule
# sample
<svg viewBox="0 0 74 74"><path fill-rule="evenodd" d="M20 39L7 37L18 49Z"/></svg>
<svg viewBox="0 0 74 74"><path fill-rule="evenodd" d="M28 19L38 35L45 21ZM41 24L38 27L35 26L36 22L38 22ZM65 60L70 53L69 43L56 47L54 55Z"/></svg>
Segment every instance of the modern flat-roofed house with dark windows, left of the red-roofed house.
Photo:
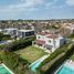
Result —
<svg viewBox="0 0 74 74"><path fill-rule="evenodd" d="M18 30L18 38L28 38L34 35L34 30Z"/></svg>

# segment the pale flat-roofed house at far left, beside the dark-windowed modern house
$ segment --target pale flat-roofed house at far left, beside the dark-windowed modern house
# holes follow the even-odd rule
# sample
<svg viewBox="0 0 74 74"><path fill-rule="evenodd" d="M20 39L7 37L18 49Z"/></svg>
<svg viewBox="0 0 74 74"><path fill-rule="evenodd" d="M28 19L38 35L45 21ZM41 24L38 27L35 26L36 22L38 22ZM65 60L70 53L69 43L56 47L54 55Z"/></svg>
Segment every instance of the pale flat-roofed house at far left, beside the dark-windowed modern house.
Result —
<svg viewBox="0 0 74 74"><path fill-rule="evenodd" d="M14 38L18 35L18 29L14 28L4 29L3 33L11 35L11 38Z"/></svg>

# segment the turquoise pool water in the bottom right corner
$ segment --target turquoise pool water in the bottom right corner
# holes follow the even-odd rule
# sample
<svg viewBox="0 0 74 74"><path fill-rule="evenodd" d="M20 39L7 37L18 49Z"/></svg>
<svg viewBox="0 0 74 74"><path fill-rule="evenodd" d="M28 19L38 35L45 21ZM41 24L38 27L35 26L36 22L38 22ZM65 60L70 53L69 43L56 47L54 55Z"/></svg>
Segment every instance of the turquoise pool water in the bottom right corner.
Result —
<svg viewBox="0 0 74 74"><path fill-rule="evenodd" d="M55 74L74 74L74 70L65 66L65 65L62 65L56 72Z"/></svg>

